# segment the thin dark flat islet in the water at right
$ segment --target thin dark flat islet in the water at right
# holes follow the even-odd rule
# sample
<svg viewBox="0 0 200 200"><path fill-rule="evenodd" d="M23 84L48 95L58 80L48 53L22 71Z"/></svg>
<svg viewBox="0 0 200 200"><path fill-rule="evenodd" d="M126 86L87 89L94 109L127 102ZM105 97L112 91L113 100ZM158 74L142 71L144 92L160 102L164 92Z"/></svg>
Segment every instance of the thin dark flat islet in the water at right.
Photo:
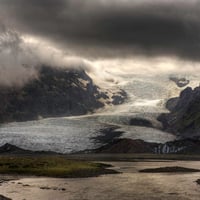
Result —
<svg viewBox="0 0 200 200"><path fill-rule="evenodd" d="M175 166L175 167L160 167L160 168L143 169L143 170L140 170L139 172L143 172L143 173L176 173L176 172L200 172L200 170Z"/></svg>

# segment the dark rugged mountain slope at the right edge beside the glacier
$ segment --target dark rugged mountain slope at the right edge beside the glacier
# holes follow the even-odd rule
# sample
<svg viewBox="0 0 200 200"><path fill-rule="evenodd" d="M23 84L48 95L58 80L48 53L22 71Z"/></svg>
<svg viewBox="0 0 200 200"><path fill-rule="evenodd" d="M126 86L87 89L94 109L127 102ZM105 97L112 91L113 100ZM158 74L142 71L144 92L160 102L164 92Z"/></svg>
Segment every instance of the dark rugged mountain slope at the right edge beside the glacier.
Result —
<svg viewBox="0 0 200 200"><path fill-rule="evenodd" d="M163 128L181 137L200 136L200 87L187 87L177 98L169 99L170 113L159 116Z"/></svg>

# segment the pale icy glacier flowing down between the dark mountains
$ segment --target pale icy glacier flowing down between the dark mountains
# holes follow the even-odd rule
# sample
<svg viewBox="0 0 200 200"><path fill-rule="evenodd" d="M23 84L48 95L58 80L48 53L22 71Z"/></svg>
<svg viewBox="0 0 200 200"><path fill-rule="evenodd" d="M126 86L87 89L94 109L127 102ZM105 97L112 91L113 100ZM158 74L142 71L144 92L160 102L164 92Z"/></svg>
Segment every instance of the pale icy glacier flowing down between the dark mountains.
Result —
<svg viewBox="0 0 200 200"><path fill-rule="evenodd" d="M0 145L10 143L30 150L56 151L62 153L94 149L103 145L94 138L102 134L102 128L119 126L121 137L143 139L149 142L174 140L172 134L138 126L129 126L133 117L148 119L156 127L161 124L156 117L167 112L165 100L177 96L180 89L168 76L146 76L123 74L122 82L112 88L122 88L128 94L123 105L107 106L93 115L80 117L62 117L38 121L9 123L0 127Z"/></svg>

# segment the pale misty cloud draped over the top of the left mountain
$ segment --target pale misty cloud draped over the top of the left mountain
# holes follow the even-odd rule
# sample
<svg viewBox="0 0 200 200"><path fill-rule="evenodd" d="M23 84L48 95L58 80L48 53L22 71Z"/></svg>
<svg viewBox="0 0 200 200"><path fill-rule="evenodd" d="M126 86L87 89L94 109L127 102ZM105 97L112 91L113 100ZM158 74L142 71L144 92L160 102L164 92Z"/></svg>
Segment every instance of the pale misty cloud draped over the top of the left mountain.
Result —
<svg viewBox="0 0 200 200"><path fill-rule="evenodd" d="M81 68L89 70L86 61L63 54L51 43L0 25L0 85L22 86L37 78L38 67Z"/></svg>

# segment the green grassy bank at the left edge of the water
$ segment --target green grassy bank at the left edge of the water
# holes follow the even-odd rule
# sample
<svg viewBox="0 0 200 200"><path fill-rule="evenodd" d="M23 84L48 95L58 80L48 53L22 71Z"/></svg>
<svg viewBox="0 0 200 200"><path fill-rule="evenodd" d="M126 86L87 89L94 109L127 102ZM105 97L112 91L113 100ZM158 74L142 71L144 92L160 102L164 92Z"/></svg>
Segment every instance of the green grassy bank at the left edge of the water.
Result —
<svg viewBox="0 0 200 200"><path fill-rule="evenodd" d="M110 165L69 160L61 156L0 157L0 174L79 178L117 173L107 167Z"/></svg>

